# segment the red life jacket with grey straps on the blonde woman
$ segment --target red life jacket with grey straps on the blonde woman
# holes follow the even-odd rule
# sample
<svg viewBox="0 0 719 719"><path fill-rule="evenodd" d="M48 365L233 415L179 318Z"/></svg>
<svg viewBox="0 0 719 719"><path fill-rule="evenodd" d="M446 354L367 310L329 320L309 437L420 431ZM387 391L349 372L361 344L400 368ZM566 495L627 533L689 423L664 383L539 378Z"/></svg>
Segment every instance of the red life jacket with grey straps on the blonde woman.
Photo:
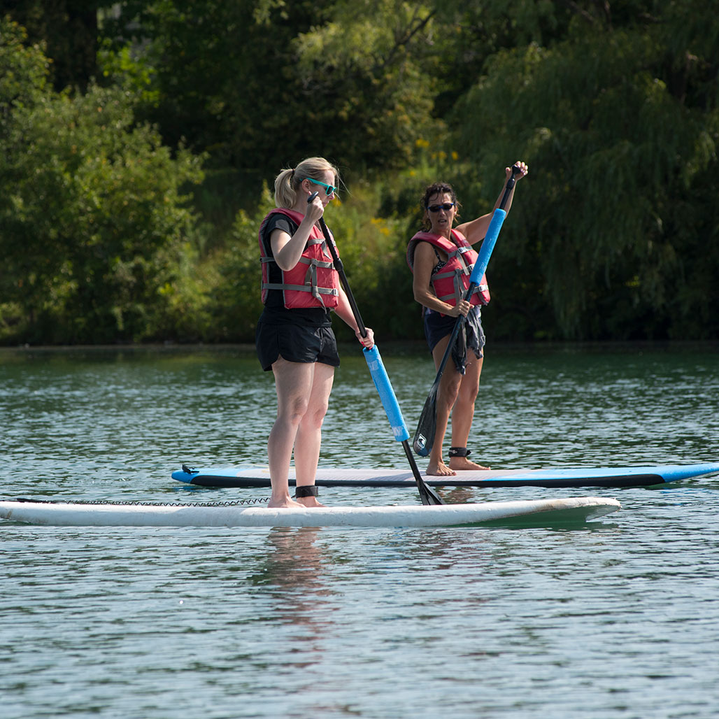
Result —
<svg viewBox="0 0 719 719"><path fill-rule="evenodd" d="M277 263L272 254L272 247L270 247L270 238L267 237L267 247L265 247L262 233L267 220L276 213L287 215L296 225L299 225L303 219L303 215L299 212L278 208L270 211L260 224L262 303L267 302L268 290L282 290L285 308L288 310L304 307L324 307L326 309L336 307L339 304L339 275L332 264L332 256L324 234L316 225L312 227L299 262L291 270L281 270L281 282L270 282L269 263L271 262L275 267L277 267ZM334 247L336 249L336 245ZM279 267L277 269L279 270Z"/></svg>

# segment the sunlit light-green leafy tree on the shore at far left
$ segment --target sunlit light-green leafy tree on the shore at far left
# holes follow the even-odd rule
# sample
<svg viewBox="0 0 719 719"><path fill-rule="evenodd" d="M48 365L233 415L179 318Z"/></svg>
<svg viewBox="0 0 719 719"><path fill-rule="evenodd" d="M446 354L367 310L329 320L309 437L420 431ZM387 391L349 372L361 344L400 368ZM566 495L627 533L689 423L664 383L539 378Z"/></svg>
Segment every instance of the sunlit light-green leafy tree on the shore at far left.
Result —
<svg viewBox="0 0 719 719"><path fill-rule="evenodd" d="M0 243L6 335L113 342L167 331L201 158L162 146L118 88L45 85L40 47L2 21ZM9 78L9 79L8 79Z"/></svg>

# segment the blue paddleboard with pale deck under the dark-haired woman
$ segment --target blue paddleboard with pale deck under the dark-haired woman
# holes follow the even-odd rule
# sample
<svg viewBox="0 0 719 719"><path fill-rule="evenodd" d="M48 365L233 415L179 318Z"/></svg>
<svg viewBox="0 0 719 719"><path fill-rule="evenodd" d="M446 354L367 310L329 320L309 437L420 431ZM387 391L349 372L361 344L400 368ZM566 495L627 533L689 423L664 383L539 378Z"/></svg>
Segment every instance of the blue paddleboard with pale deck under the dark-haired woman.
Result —
<svg viewBox="0 0 719 719"><path fill-rule="evenodd" d="M485 470L457 472L453 477L423 480L434 487L649 487L719 472L719 462L660 464L654 467L580 467L549 470ZM172 477L200 487L269 487L267 467L192 469L183 464ZM416 487L410 470L331 469L317 470L320 487ZM290 468L290 485L295 470Z"/></svg>

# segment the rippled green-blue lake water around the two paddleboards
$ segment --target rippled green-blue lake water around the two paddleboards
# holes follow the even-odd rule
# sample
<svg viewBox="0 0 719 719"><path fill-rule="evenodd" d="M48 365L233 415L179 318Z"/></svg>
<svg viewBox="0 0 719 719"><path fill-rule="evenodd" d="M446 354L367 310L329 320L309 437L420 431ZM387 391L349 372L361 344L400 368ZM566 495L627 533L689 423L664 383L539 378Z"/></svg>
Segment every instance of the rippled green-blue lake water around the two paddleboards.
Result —
<svg viewBox="0 0 719 719"><path fill-rule="evenodd" d="M434 380L380 347L413 429ZM2 498L214 501L182 462L266 462L252 349L0 350ZM719 348L490 347L472 457L495 468L719 459ZM423 460L419 462L423 465ZM321 464L407 467L344 348ZM0 715L714 718L719 477L614 496L572 530L63 528L0 523ZM327 505L416 503L322 488Z"/></svg>

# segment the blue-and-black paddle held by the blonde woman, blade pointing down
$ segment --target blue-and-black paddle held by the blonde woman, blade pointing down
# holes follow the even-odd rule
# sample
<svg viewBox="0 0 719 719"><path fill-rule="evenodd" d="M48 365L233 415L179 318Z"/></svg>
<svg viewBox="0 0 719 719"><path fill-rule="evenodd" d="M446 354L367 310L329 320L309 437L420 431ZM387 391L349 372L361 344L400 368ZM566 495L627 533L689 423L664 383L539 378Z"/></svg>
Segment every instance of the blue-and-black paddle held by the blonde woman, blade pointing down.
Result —
<svg viewBox="0 0 719 719"><path fill-rule="evenodd" d="M309 196L307 200L308 203L313 201L316 195L317 193L313 193ZM339 255L337 255L337 251L334 249L334 242L324 222L324 217L319 219L319 226L322 229L324 239L331 252L332 262L334 263L335 270L337 270L339 274L339 281L342 283L344 293L347 295L349 306L352 308L354 321L357 322L357 327L359 327L359 334L366 337L367 328L365 327L365 323L362 322L362 316L359 314L359 308L357 307L357 302L354 301L352 290L349 289L349 283L347 282L347 275L344 274L342 260L339 259ZM422 479L422 475L419 473L417 463L414 460L412 450L408 443L409 432L407 425L402 416L395 390L390 383L390 378L387 376L387 370L385 370L385 365L383 365L382 357L380 357L380 350L377 349L377 345L375 344L370 349L367 349L367 347L363 348L363 352L365 354L365 360L367 361L367 367L370 368L370 375L372 375L372 380L375 383L377 392L380 395L380 400L382 400L382 405L385 408L385 413L387 413L387 418L390 421L395 440L402 443L407 459L409 460L414 480L417 482L417 489L419 490L419 497L422 500L422 504L445 504L444 500L426 484Z"/></svg>

